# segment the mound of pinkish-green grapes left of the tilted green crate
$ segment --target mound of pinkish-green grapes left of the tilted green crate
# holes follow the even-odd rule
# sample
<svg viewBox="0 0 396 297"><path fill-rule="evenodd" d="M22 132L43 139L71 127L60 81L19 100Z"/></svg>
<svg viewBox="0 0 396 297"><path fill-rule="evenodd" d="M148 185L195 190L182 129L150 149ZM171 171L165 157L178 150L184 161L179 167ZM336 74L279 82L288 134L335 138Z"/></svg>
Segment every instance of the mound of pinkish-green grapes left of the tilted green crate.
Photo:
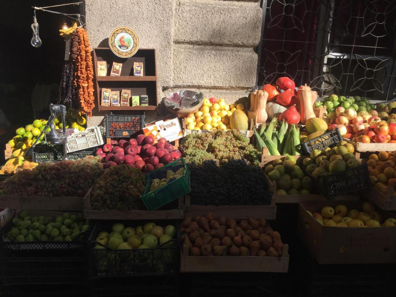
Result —
<svg viewBox="0 0 396 297"><path fill-rule="evenodd" d="M93 185L91 208L95 210L117 209L143 210L140 199L145 191L146 175L128 165L110 167Z"/></svg>

